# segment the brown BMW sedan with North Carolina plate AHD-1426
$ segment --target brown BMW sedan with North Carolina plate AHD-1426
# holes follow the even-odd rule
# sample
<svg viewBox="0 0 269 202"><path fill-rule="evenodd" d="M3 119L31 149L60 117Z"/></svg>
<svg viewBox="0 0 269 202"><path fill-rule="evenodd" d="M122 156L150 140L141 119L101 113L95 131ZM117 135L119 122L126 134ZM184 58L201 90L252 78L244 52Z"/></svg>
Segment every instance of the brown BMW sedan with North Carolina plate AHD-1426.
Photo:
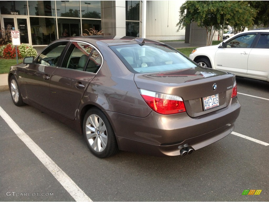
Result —
<svg viewBox="0 0 269 202"><path fill-rule="evenodd" d="M235 75L142 38L56 40L12 66L8 82L15 105L83 133L99 158L185 156L230 134L240 112Z"/></svg>

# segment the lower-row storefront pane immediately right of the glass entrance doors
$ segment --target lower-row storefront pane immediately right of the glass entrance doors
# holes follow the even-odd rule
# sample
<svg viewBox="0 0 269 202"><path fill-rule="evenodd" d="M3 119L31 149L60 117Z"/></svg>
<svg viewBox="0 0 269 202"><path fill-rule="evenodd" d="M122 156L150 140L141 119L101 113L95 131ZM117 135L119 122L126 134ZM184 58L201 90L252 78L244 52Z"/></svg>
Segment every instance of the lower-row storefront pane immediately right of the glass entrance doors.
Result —
<svg viewBox="0 0 269 202"><path fill-rule="evenodd" d="M48 45L56 40L56 19L30 17L32 45Z"/></svg>

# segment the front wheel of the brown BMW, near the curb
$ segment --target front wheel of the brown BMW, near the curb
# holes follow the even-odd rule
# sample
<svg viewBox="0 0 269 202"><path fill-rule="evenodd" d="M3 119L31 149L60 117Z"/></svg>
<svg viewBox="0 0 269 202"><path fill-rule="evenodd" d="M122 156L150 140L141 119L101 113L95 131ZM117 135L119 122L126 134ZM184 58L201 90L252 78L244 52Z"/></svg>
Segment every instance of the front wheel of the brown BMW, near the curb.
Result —
<svg viewBox="0 0 269 202"><path fill-rule="evenodd" d="M9 79L9 90L12 97L12 101L16 106L23 106L24 102L20 93L20 88L15 76L11 76Z"/></svg>

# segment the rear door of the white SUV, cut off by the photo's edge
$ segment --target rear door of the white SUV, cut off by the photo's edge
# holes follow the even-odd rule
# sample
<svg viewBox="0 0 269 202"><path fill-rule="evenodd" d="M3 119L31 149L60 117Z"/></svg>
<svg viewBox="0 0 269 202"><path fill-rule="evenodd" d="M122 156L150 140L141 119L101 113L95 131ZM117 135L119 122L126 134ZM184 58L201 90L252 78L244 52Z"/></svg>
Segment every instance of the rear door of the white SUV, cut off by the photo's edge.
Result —
<svg viewBox="0 0 269 202"><path fill-rule="evenodd" d="M269 33L261 33L256 46L249 53L247 75L266 80L269 74Z"/></svg>

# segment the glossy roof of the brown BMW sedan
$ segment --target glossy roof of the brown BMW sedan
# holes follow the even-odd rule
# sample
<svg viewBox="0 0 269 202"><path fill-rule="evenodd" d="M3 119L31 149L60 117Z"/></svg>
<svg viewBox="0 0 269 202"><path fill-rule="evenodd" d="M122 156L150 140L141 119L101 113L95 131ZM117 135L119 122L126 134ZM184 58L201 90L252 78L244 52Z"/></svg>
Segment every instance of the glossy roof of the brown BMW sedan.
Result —
<svg viewBox="0 0 269 202"><path fill-rule="evenodd" d="M102 41L103 43L107 44L107 46L115 46L121 44L143 44L143 43L158 43L163 44L162 42L144 39L139 37L129 37L129 36L112 36L112 35L95 35L95 36L79 36L79 37L66 37L60 40L79 40L91 43L92 41Z"/></svg>

